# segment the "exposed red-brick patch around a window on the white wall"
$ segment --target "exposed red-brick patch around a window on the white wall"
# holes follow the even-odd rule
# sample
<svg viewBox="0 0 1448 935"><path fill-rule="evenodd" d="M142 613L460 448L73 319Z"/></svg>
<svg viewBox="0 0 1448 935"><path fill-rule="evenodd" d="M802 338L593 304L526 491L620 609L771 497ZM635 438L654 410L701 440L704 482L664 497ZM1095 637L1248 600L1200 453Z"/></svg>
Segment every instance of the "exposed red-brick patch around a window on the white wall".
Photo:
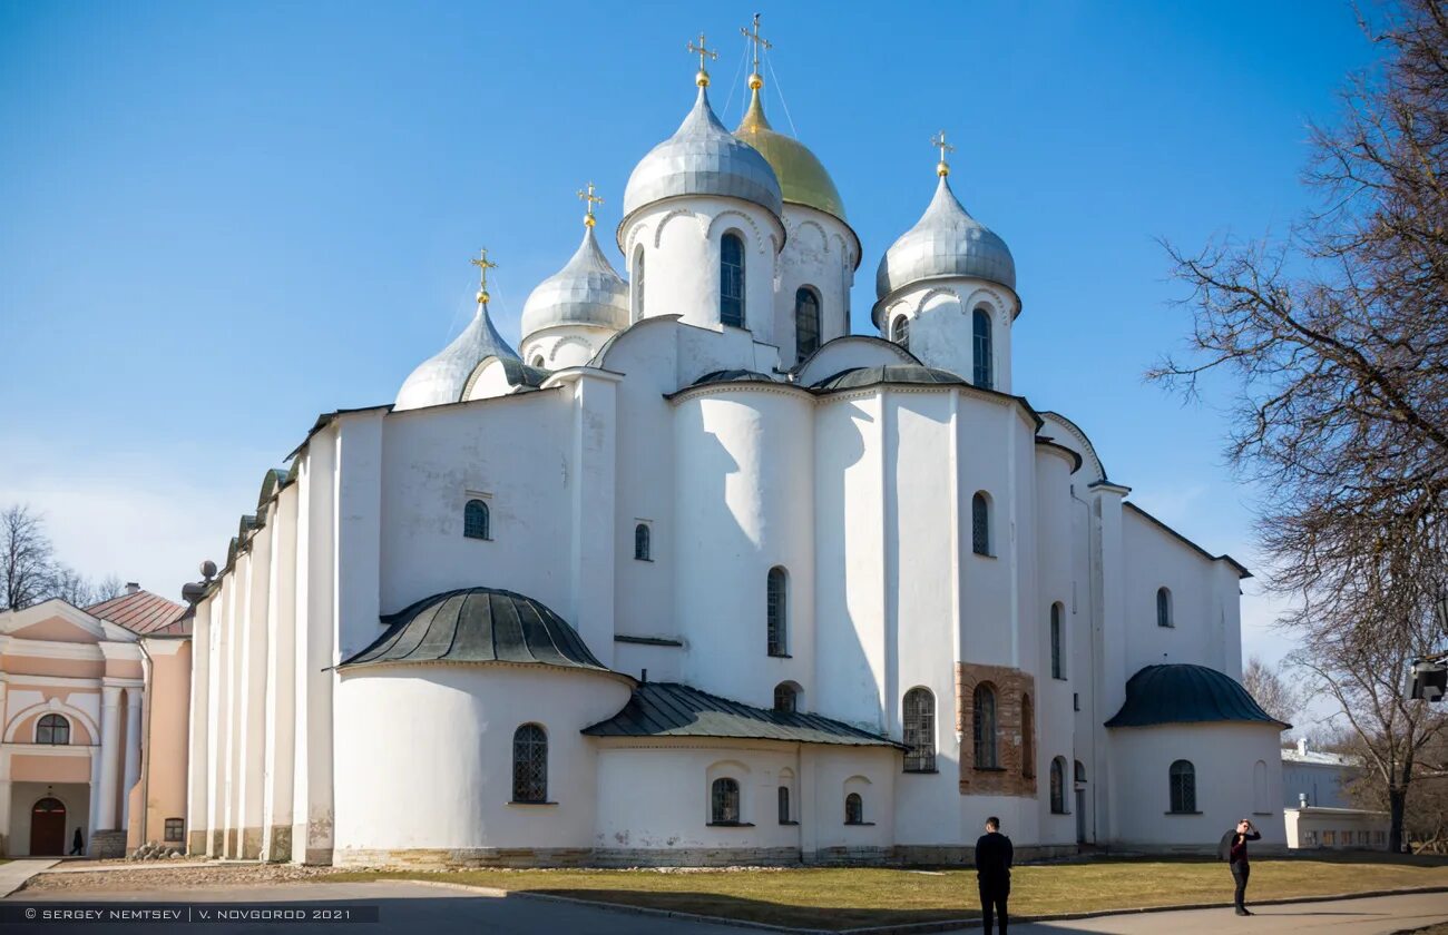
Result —
<svg viewBox="0 0 1448 935"><path fill-rule="evenodd" d="M996 766L976 766L976 688L988 685L995 693ZM956 663L956 731L960 734L960 795L1035 796L1035 774L1040 771L1035 725L1022 721L1025 699L1035 703L1035 679L1006 666ZM1027 767L1027 747L1030 766Z"/></svg>

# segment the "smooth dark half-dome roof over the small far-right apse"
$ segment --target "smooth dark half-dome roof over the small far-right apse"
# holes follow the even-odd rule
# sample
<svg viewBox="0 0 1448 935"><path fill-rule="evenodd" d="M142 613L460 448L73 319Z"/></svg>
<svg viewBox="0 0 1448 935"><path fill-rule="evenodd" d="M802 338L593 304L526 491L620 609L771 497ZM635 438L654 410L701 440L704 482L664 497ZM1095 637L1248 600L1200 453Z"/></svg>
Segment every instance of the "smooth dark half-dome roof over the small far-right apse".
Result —
<svg viewBox="0 0 1448 935"><path fill-rule="evenodd" d="M1127 702L1106 727L1253 721L1292 727L1273 718L1229 676L1206 666L1147 666L1127 680Z"/></svg>

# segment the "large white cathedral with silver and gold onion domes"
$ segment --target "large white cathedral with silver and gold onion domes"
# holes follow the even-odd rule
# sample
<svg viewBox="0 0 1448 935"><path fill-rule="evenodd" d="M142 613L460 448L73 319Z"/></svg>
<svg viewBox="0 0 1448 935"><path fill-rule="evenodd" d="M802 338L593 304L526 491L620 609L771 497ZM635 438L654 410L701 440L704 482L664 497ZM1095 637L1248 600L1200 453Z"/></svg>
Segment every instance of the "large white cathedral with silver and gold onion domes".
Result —
<svg viewBox="0 0 1448 935"><path fill-rule="evenodd" d="M702 58L701 58L702 62ZM1005 242L941 149L860 242L753 101L698 97L523 310L324 414L197 589L193 852L956 861L1281 845L1239 580L1011 381ZM591 192L589 192L591 194ZM925 200L924 188L919 197Z"/></svg>

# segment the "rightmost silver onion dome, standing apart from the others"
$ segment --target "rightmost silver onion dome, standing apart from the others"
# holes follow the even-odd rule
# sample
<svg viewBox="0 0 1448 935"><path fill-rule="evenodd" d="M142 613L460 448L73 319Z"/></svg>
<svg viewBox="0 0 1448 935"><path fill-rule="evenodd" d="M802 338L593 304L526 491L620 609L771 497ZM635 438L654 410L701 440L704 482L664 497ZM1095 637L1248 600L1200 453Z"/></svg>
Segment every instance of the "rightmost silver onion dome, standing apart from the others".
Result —
<svg viewBox="0 0 1448 935"><path fill-rule="evenodd" d="M912 282L941 276L973 276L1015 291L1011 249L999 234L970 217L944 175L921 219L885 250L875 292L883 300Z"/></svg>

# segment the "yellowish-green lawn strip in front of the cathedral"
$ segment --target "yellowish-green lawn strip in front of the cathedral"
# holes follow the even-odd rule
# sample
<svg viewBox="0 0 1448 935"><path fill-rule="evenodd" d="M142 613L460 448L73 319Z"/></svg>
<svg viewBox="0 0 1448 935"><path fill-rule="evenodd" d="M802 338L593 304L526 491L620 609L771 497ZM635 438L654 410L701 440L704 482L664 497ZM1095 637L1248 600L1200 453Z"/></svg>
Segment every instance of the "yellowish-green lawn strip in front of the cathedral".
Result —
<svg viewBox="0 0 1448 935"><path fill-rule="evenodd" d="M607 903L675 909L799 928L846 929L979 916L973 870L799 868L656 873L649 870L356 871L324 881L446 880ZM1254 860L1251 899L1329 896L1448 886L1448 860ZM1226 864L1206 860L1092 860L1016 867L1012 915L1057 915L1187 903L1229 903Z"/></svg>

